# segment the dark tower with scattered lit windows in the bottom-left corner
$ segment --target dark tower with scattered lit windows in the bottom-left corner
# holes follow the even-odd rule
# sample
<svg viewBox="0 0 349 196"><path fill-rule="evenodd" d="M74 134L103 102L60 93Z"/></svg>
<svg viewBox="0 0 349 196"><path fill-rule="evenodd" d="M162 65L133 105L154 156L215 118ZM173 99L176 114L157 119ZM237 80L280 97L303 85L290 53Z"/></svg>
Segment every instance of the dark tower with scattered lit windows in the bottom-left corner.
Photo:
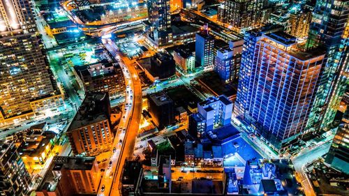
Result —
<svg viewBox="0 0 349 196"><path fill-rule="evenodd" d="M27 196L30 176L13 142L0 144L0 195Z"/></svg>

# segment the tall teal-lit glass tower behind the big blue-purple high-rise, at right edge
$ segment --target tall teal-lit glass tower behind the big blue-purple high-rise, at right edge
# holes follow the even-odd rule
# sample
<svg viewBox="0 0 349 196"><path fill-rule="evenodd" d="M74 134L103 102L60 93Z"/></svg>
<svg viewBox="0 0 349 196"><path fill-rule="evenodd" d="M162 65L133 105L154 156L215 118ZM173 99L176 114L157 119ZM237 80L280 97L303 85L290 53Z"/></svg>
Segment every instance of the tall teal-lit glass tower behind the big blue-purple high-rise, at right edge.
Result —
<svg viewBox="0 0 349 196"><path fill-rule="evenodd" d="M327 61L307 126L309 131L327 128L336 114L349 74L349 1L316 1L306 44L325 47Z"/></svg>

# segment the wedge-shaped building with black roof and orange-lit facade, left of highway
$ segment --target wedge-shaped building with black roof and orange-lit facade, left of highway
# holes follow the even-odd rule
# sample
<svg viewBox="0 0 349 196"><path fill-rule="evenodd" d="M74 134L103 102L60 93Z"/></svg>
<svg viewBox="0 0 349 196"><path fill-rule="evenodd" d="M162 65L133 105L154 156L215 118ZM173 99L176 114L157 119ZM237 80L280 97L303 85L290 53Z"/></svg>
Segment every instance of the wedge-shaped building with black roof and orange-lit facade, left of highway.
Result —
<svg viewBox="0 0 349 196"><path fill-rule="evenodd" d="M107 93L88 93L67 130L75 155L98 155L112 148L110 100Z"/></svg>

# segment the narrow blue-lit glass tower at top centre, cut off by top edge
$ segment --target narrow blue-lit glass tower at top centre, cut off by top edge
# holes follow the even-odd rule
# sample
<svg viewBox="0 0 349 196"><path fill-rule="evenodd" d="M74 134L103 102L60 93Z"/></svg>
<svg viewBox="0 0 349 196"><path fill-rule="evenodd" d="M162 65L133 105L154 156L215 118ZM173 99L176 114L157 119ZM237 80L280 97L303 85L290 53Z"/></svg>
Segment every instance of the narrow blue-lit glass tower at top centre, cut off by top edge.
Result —
<svg viewBox="0 0 349 196"><path fill-rule="evenodd" d="M147 1L150 22L149 41L155 47L172 43L170 0Z"/></svg>

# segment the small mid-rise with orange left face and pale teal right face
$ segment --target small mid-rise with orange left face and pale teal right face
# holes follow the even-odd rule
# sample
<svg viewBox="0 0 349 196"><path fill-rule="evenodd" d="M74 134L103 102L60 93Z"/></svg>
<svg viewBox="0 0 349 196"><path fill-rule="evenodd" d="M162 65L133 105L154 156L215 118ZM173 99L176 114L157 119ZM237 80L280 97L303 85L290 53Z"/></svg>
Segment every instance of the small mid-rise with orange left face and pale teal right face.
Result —
<svg viewBox="0 0 349 196"><path fill-rule="evenodd" d="M188 47L179 47L174 50L174 61L177 69L184 75L195 72L195 56Z"/></svg>

